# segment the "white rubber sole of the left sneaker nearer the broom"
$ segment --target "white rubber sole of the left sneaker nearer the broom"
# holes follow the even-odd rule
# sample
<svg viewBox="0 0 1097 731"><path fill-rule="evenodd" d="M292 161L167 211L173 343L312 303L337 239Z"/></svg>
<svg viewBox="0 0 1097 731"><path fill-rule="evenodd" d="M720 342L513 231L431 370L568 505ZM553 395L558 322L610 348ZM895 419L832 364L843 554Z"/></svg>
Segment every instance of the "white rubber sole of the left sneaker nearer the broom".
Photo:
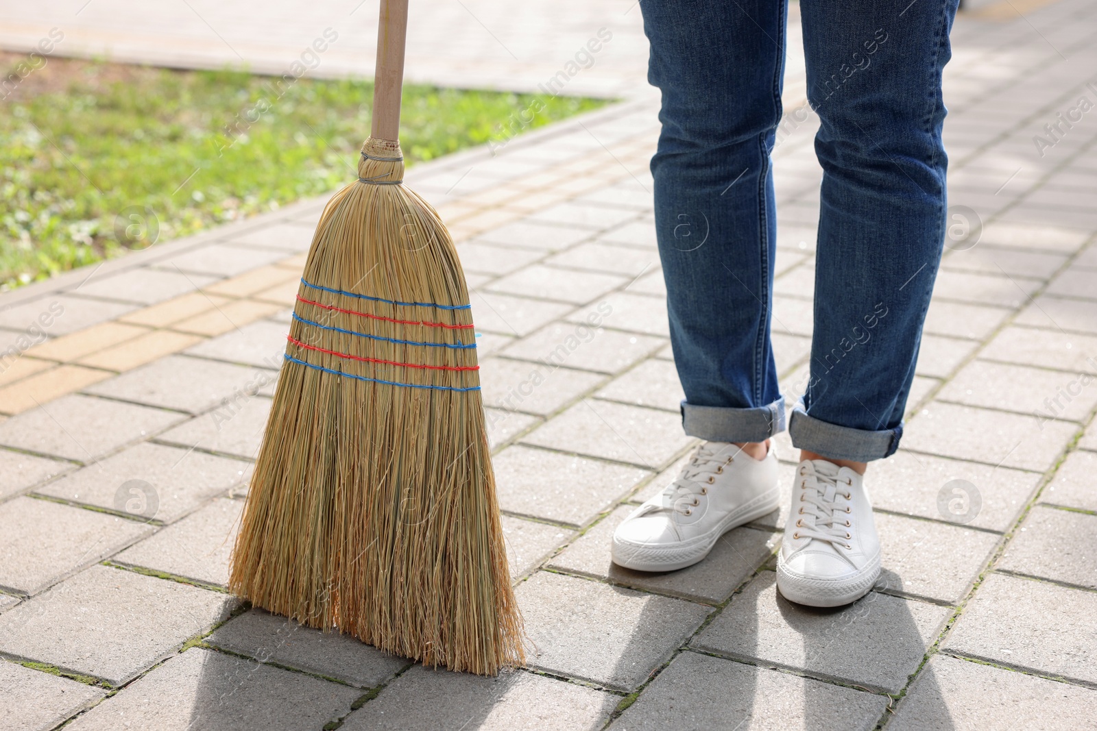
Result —
<svg viewBox="0 0 1097 731"><path fill-rule="evenodd" d="M677 571L708 556L720 537L738 526L768 515L780 506L778 488L768 490L728 513L712 529L677 544L637 544L613 537L613 562L633 571Z"/></svg>

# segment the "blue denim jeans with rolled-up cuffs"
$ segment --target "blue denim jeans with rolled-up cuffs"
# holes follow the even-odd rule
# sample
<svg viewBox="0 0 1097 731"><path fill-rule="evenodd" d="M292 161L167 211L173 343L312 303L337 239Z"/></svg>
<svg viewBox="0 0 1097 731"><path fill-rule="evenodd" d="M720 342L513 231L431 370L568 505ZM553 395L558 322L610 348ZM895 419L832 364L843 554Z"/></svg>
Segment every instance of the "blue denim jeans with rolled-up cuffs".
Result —
<svg viewBox="0 0 1097 731"><path fill-rule="evenodd" d="M642 0L663 92L655 224L687 434L784 429L770 345L784 0ZM793 444L895 452L945 240L941 70L957 0L801 0L823 167L811 378Z"/></svg>

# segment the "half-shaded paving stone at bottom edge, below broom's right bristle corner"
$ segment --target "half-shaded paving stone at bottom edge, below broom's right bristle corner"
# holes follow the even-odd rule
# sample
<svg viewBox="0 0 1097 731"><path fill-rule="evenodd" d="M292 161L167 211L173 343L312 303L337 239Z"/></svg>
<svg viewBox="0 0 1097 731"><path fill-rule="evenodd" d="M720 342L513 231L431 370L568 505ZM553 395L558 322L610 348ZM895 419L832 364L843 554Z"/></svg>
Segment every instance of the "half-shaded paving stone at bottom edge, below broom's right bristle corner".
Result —
<svg viewBox="0 0 1097 731"><path fill-rule="evenodd" d="M479 677L416 666L342 724L347 731L600 729L620 696L521 671Z"/></svg>

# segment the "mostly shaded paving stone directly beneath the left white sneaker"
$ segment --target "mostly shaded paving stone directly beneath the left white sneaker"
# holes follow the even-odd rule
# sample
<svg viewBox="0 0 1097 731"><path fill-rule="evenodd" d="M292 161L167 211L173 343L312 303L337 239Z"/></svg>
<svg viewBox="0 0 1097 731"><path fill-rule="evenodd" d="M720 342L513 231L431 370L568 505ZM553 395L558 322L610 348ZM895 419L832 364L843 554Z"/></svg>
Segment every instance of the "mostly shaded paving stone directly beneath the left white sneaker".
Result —
<svg viewBox="0 0 1097 731"><path fill-rule="evenodd" d="M551 568L648 592L704 604L720 604L772 556L780 536L753 528L734 528L716 541L700 563L669 572L633 571L610 559L613 530L635 510L622 505L583 534L550 563Z"/></svg>

